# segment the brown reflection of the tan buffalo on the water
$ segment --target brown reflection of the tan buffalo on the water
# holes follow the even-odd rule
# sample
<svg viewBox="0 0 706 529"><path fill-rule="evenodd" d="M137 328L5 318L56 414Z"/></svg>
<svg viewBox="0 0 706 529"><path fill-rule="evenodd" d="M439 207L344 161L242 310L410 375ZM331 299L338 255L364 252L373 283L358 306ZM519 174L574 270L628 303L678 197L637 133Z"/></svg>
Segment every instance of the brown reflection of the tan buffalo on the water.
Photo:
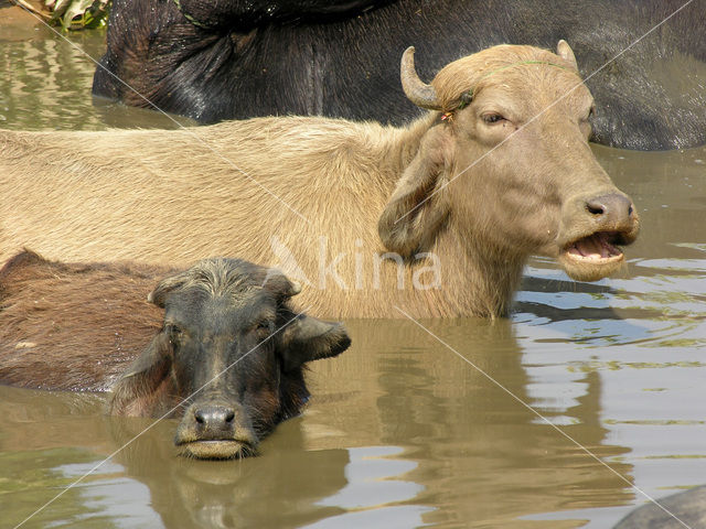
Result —
<svg viewBox="0 0 706 529"><path fill-rule="evenodd" d="M526 393L527 377L510 322L428 321L425 325L507 391L534 403ZM327 386L341 388L330 381L340 376L342 384L355 373L361 389L349 400L356 401L355 410L367 413L353 421L341 417L338 427L340 399L332 393L331 404L322 402L328 395L314 387L317 414L325 417L334 430L360 424L347 432L349 445L368 444L372 436L403 446L405 457L418 462L408 478L425 486L408 504L435 507L424 515L425 522L461 527L468 520L494 520L496 527L512 527L512 520L528 512L620 505L629 498L621 479L544 422L537 423L536 415L504 389L411 322L349 322L349 330L359 338L353 354L322 366L321 377ZM580 378L584 391L568 407L576 420L567 432L602 457L623 454L627 449L605 441L607 430L598 418L599 377ZM558 415L548 408L542 412L549 420ZM628 466L618 462L612 466L630 476ZM576 489L582 490L580 497L566 495Z"/></svg>

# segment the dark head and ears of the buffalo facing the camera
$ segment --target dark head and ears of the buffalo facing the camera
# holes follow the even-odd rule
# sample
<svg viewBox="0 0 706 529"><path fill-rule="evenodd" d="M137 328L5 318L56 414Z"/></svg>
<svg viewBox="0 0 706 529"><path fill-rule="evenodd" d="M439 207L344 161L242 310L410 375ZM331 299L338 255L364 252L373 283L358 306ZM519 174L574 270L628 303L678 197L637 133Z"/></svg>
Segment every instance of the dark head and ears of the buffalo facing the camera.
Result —
<svg viewBox="0 0 706 529"><path fill-rule="evenodd" d="M162 280L149 300L164 307L163 327L116 384L110 411L181 417L183 455L255 453L309 397L302 366L351 343L342 324L292 310L298 292L280 272L237 259Z"/></svg>

